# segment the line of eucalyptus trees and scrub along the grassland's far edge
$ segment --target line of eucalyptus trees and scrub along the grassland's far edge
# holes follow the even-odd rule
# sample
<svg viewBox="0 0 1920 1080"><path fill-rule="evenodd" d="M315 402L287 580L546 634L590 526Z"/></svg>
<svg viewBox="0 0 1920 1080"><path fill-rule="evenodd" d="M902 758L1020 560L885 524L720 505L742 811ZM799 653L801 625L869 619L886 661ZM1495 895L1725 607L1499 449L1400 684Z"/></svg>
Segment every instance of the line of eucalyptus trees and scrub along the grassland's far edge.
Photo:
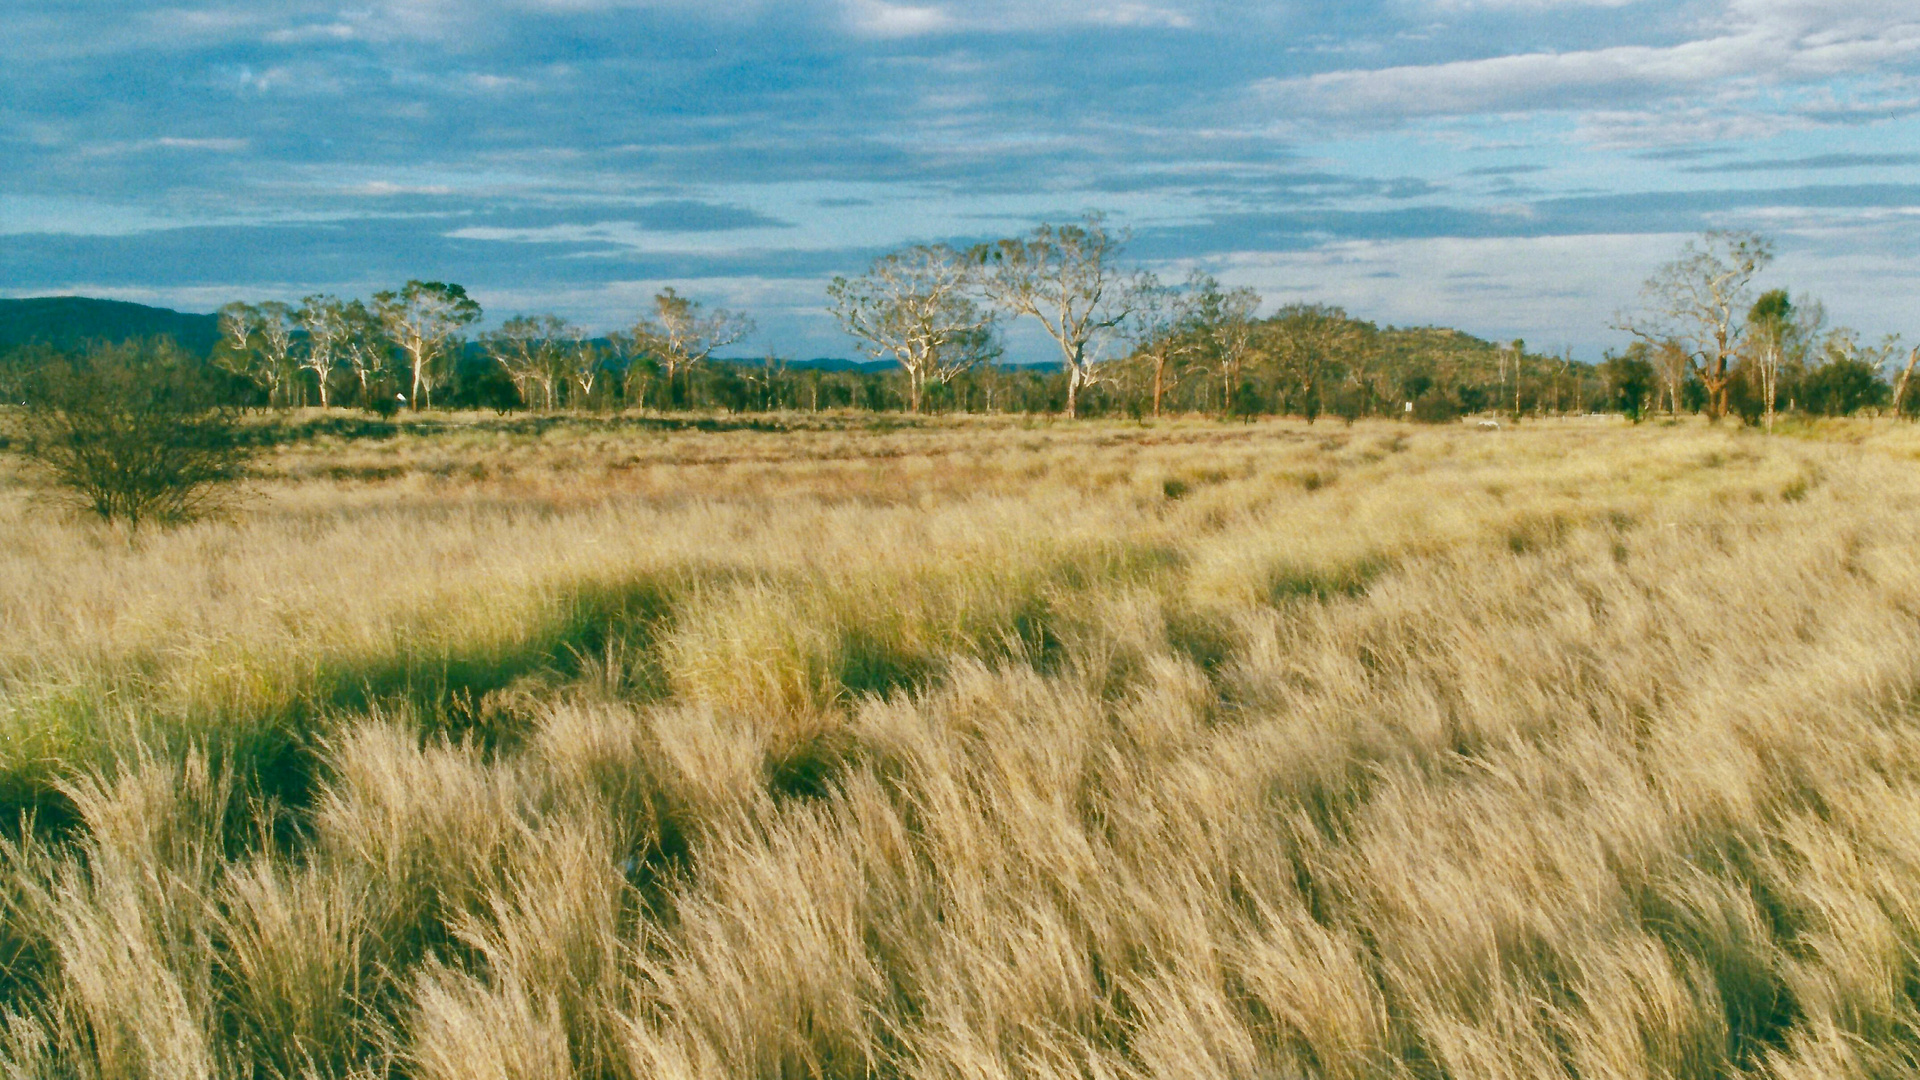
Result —
<svg viewBox="0 0 1920 1080"><path fill-rule="evenodd" d="M1123 259L1098 215L972 248L916 244L828 284L828 311L885 369L831 371L778 356L718 359L751 317L660 290L632 325L589 336L559 315L515 315L468 338L480 304L409 281L367 300L228 304L211 354L236 405L511 409L870 409L1160 417L1659 411L1772 427L1782 411L1914 413L1916 352L1830 327L1818 302L1751 294L1772 259L1753 233L1709 233L1645 284L1617 325L1620 354L1582 363L1526 342L1379 327L1325 304L1261 313L1250 288L1192 273L1164 282ZM1008 367L1004 332L1056 346ZM31 359L31 357L27 357ZM15 357L19 367L23 357Z"/></svg>

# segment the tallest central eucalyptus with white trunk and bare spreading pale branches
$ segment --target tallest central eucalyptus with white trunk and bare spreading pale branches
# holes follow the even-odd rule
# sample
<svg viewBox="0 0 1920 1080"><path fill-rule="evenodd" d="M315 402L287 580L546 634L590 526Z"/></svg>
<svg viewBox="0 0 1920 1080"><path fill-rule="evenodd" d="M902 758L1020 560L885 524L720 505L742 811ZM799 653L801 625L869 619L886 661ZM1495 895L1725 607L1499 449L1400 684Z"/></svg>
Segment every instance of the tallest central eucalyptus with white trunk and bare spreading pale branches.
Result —
<svg viewBox="0 0 1920 1080"><path fill-rule="evenodd" d="M993 304L1027 315L1060 346L1068 369L1068 417L1079 392L1098 382L1100 344L1139 304L1139 279L1119 265L1125 236L1089 213L1077 225L1041 225L1033 233L981 244L970 252L981 290Z"/></svg>

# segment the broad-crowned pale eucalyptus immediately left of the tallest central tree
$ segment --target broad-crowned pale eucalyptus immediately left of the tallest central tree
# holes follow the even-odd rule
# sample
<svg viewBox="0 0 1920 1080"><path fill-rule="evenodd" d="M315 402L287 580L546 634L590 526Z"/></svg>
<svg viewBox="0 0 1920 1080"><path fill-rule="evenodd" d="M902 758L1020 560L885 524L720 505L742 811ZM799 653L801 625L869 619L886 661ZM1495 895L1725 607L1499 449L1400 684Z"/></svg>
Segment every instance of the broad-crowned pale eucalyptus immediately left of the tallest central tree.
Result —
<svg viewBox="0 0 1920 1080"><path fill-rule="evenodd" d="M1000 356L995 313L973 296L972 265L945 244L881 256L860 277L828 284L833 315L876 359L906 375L906 402L920 411L927 382L947 384Z"/></svg>

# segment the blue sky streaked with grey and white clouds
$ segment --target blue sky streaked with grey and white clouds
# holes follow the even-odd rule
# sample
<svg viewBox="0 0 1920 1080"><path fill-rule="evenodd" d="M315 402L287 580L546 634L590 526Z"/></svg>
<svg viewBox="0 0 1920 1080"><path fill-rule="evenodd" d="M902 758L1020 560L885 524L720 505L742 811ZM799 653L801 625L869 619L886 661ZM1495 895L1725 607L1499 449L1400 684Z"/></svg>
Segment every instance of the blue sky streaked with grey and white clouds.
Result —
<svg viewBox="0 0 1920 1080"><path fill-rule="evenodd" d="M831 356L833 273L1098 208L1167 277L1582 357L1761 229L1920 332L1912 0L6 0L0 146L6 296L674 284Z"/></svg>

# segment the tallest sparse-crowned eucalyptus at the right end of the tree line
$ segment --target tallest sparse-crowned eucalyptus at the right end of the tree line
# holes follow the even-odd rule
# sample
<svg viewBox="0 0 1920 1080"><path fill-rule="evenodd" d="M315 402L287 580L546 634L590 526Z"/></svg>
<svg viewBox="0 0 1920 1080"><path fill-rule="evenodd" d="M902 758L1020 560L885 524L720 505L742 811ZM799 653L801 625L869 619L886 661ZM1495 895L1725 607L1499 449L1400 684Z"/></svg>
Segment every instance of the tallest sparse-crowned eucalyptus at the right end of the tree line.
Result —
<svg viewBox="0 0 1920 1080"><path fill-rule="evenodd" d="M1688 369L1707 388L1713 419L1726 415L1726 384L1745 332L1753 277L1772 261L1774 244L1759 233L1705 233L1645 281L1644 311L1619 321L1655 348L1686 356Z"/></svg>

